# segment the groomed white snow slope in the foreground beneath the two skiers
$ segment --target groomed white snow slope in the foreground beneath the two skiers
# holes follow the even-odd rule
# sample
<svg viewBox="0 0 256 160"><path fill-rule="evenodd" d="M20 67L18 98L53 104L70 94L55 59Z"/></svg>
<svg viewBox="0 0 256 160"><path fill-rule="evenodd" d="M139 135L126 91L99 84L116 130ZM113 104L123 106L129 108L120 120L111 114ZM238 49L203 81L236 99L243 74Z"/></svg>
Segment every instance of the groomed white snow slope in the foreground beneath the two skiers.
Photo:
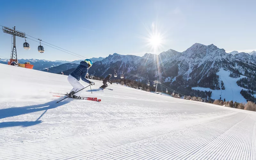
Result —
<svg viewBox="0 0 256 160"><path fill-rule="evenodd" d="M256 159L255 112L95 83L0 64L0 159Z"/></svg>

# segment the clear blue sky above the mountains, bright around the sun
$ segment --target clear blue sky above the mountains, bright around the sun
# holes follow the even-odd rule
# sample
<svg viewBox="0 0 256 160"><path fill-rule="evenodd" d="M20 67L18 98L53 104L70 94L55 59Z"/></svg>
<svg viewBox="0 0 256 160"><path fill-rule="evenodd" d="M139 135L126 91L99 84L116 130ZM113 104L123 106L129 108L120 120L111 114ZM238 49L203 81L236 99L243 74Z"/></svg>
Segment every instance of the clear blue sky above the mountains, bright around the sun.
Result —
<svg viewBox="0 0 256 160"><path fill-rule="evenodd" d="M154 52L142 37L158 27L164 37L156 53L184 51L194 43L214 44L226 51L256 49L256 1L205 0L43 0L1 1L0 25L40 38L85 57L114 52L142 56ZM18 59L77 60L78 57L18 37ZM0 56L10 57L11 35L0 31ZM0 57L3 58L3 57Z"/></svg>

